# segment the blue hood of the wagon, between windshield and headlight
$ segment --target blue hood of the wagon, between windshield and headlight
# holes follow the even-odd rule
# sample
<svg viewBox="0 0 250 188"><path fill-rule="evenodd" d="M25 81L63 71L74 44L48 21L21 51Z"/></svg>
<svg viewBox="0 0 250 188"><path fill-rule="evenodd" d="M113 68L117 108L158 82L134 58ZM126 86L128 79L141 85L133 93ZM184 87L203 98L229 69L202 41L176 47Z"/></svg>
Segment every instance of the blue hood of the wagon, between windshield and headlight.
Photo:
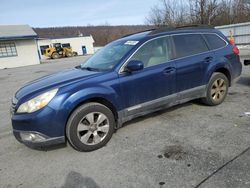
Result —
<svg viewBox="0 0 250 188"><path fill-rule="evenodd" d="M98 74L98 72L77 68L61 71L27 83L17 91L15 97L19 100L20 98L32 95L33 93L45 92L46 90L60 87L77 80L88 79L95 74Z"/></svg>

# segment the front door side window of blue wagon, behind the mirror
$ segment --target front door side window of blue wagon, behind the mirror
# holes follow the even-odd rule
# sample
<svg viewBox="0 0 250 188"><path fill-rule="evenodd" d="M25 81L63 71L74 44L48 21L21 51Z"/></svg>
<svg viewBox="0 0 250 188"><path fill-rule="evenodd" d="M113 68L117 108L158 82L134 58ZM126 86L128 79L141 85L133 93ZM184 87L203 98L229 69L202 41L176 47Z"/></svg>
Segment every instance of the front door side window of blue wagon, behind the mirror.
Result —
<svg viewBox="0 0 250 188"><path fill-rule="evenodd" d="M139 60L144 67L151 67L171 60L171 52L170 38L162 37L144 44L130 60Z"/></svg>

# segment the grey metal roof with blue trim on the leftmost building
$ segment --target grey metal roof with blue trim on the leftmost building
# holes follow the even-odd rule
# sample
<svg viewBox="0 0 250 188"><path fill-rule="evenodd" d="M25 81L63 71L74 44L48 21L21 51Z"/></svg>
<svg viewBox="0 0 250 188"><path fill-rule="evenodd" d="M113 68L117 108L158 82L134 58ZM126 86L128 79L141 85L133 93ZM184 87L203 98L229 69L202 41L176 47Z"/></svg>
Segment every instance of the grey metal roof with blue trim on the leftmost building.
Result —
<svg viewBox="0 0 250 188"><path fill-rule="evenodd" d="M35 31L29 25L0 25L0 40L34 39Z"/></svg>

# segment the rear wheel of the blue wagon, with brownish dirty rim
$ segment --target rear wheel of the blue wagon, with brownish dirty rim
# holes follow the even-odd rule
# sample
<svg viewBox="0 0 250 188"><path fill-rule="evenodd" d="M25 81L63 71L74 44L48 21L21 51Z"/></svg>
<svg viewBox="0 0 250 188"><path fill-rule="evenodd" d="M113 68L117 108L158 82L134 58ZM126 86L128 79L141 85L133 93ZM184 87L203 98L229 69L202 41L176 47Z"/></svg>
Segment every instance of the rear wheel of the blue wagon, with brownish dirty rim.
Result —
<svg viewBox="0 0 250 188"><path fill-rule="evenodd" d="M228 92L229 81L228 78L219 72L213 73L208 83L206 97L201 101L209 106L216 106L221 104Z"/></svg>

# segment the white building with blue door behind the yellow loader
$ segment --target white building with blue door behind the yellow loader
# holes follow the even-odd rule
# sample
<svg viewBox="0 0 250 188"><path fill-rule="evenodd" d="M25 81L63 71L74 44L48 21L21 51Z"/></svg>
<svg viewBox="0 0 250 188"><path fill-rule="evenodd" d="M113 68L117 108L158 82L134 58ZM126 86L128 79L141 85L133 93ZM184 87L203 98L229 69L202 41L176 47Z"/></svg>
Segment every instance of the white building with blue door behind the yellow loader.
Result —
<svg viewBox="0 0 250 188"><path fill-rule="evenodd" d="M71 47L78 55L94 54L94 39L90 36L79 36L69 38L55 39L38 39L38 51L41 59L48 57L44 56L44 50L49 48L54 43L61 43L62 47Z"/></svg>

